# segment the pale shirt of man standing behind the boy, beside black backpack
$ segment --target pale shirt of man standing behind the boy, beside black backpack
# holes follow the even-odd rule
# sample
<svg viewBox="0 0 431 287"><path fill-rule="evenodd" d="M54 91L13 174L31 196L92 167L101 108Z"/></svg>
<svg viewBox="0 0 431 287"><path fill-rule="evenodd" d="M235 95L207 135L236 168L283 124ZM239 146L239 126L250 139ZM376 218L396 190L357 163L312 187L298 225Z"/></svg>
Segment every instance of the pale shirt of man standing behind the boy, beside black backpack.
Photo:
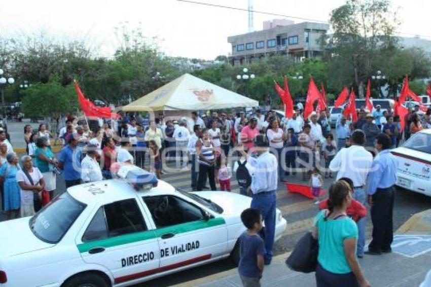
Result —
<svg viewBox="0 0 431 287"><path fill-rule="evenodd" d="M258 156L247 158L247 163L253 166L252 175L252 192L258 194L277 190L278 183L278 162L277 158L270 154L269 151Z"/></svg>

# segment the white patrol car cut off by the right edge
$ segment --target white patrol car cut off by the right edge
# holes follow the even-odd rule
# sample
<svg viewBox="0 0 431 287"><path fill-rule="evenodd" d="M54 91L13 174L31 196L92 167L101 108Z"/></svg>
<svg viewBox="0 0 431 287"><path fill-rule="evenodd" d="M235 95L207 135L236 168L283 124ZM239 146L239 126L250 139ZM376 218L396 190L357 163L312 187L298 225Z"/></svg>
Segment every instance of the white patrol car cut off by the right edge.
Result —
<svg viewBox="0 0 431 287"><path fill-rule="evenodd" d="M431 196L431 129L412 135L392 154L398 159L397 185Z"/></svg>

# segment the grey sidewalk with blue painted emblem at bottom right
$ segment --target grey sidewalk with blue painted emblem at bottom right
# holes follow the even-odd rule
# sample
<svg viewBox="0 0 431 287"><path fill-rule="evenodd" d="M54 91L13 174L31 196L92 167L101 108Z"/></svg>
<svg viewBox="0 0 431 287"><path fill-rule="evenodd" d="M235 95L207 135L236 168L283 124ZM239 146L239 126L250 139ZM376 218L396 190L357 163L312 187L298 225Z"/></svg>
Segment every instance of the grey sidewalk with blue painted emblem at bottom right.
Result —
<svg viewBox="0 0 431 287"><path fill-rule="evenodd" d="M418 286L431 268L431 209L415 214L394 236L393 252L381 256L365 255L358 261L372 286ZM284 263L289 254L273 258L265 266L262 286L315 286L314 273L290 270ZM189 281L178 286L242 286L237 269Z"/></svg>

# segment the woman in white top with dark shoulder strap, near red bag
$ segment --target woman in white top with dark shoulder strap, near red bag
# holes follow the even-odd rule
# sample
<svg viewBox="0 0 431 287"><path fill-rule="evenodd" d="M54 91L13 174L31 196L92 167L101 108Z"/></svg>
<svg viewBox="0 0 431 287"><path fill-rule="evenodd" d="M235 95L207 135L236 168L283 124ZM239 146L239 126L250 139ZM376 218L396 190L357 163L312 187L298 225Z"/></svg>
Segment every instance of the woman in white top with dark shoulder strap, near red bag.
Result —
<svg viewBox="0 0 431 287"><path fill-rule="evenodd" d="M33 167L30 156L21 157L21 166L22 169L16 174L16 180L21 188L21 217L33 216L35 213L33 197L41 197L43 192L49 196L49 193L44 191L45 181L43 175L39 168Z"/></svg>

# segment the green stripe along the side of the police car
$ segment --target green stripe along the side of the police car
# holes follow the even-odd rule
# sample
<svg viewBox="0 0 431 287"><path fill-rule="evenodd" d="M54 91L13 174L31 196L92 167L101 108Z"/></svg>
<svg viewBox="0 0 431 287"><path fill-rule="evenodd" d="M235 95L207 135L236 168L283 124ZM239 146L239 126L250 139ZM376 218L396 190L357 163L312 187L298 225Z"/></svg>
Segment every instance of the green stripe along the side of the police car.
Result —
<svg viewBox="0 0 431 287"><path fill-rule="evenodd" d="M134 243L138 241L157 238L166 233L181 234L181 233L186 233L186 232L199 230L203 228L219 226L225 223L226 222L223 218L213 218L208 221L200 220L200 221L188 222L188 223L178 224L178 225L169 226L169 227L163 227L155 230L147 230L147 231L142 231L137 233L131 233L131 234L125 234L125 235L100 239L96 241L85 242L85 243L78 244L77 247L80 253L85 253L94 247L104 247L104 248L114 247L114 246L119 246L123 244L129 244L129 243Z"/></svg>

